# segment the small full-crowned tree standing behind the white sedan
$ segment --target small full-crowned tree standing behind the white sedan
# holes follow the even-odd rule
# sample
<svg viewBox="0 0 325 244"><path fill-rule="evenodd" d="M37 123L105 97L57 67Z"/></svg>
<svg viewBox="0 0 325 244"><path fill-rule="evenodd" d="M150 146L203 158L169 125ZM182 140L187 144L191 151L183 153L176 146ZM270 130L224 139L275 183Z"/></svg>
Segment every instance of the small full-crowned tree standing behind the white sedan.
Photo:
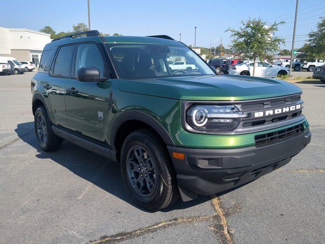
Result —
<svg viewBox="0 0 325 244"><path fill-rule="evenodd" d="M226 32L231 32L231 48L237 55L253 59L253 76L255 75L256 59L272 59L275 52L280 49L280 44L284 40L274 36L278 31L278 26L284 22L274 22L267 25L261 18L249 18L246 22L241 21L242 27L238 31L228 28Z"/></svg>

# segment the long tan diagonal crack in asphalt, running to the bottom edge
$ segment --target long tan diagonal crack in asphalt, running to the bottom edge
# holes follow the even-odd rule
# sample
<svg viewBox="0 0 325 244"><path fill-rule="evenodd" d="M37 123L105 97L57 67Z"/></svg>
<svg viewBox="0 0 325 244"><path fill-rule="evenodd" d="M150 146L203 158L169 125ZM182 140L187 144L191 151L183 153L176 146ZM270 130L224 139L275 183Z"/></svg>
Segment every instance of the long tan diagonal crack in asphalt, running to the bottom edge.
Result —
<svg viewBox="0 0 325 244"><path fill-rule="evenodd" d="M206 216L199 216L199 217L187 217L187 218L175 218L169 221L160 222L148 227L136 229L133 231L128 232L121 232L118 234L113 234L110 236L103 236L99 240L90 241L92 244L108 244L108 243L117 243L129 239L134 239L139 236L143 236L149 233L156 232L161 229L166 229L175 225L180 224L188 224L193 222L202 222L207 221L211 218L213 218L215 215L206 215Z"/></svg>

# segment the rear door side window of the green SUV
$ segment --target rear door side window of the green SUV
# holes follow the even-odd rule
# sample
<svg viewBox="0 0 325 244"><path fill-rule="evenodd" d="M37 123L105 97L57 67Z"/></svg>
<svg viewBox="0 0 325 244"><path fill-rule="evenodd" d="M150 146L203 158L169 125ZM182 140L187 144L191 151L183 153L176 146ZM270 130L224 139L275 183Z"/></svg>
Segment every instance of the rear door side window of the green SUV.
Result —
<svg viewBox="0 0 325 244"><path fill-rule="evenodd" d="M63 46L58 51L54 61L53 76L71 77L71 63L75 51L75 45Z"/></svg>

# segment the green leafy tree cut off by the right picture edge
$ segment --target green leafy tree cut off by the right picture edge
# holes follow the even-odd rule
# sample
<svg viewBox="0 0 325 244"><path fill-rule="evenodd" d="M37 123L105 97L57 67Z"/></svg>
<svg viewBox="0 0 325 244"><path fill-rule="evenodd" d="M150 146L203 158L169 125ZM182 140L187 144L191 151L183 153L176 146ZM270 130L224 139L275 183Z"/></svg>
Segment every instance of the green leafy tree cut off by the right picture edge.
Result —
<svg viewBox="0 0 325 244"><path fill-rule="evenodd" d="M308 59L325 59L325 18L317 22L317 30L308 34L308 41L302 51Z"/></svg>

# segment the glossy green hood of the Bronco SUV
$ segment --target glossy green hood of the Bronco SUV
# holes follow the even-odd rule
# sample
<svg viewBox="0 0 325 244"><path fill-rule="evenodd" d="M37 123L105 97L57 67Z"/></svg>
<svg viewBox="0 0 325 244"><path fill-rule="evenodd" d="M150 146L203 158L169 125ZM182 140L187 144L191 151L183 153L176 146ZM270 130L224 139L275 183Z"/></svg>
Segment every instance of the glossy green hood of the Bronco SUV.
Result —
<svg viewBox="0 0 325 244"><path fill-rule="evenodd" d="M279 97L302 90L279 79L235 75L119 80L123 92L179 100L238 101Z"/></svg>

